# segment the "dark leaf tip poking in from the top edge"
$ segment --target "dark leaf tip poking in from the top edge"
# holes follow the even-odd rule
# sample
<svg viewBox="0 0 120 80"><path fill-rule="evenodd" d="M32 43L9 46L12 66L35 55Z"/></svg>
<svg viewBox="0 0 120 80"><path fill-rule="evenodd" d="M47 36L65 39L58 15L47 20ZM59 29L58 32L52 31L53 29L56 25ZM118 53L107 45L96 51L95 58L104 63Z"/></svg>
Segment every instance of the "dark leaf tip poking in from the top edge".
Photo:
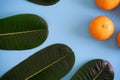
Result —
<svg viewBox="0 0 120 80"><path fill-rule="evenodd" d="M40 4L40 5L53 5L57 3L59 0L28 0L30 2Z"/></svg>

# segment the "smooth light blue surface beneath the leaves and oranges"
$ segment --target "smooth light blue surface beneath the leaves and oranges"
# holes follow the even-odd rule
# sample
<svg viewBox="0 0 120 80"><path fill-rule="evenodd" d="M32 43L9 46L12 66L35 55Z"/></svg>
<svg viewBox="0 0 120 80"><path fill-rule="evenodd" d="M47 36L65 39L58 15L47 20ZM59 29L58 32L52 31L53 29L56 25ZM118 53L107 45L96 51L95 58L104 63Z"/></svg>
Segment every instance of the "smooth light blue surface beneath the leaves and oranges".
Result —
<svg viewBox="0 0 120 80"><path fill-rule="evenodd" d="M49 25L47 40L39 47L25 51L0 50L0 76L40 49L54 43L67 44L75 52L75 65L61 80L69 80L80 66L92 59L108 60L114 68L114 80L120 80L120 48L116 33L120 31L120 7L103 11L95 0L60 0L52 6L41 6L26 0L0 0L0 18L16 14L37 14ZM90 21L99 15L110 17L115 24L114 35L106 41L93 39L89 34Z"/></svg>

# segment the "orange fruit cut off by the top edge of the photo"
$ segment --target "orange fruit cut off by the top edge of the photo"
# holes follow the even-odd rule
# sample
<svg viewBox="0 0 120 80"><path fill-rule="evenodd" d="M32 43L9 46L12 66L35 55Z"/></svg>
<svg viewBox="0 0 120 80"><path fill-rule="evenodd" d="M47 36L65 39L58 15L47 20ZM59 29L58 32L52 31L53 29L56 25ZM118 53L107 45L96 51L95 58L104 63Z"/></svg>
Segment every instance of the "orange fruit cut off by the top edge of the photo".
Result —
<svg viewBox="0 0 120 80"><path fill-rule="evenodd" d="M99 8L103 10L112 10L117 7L120 0L96 0L96 4Z"/></svg>

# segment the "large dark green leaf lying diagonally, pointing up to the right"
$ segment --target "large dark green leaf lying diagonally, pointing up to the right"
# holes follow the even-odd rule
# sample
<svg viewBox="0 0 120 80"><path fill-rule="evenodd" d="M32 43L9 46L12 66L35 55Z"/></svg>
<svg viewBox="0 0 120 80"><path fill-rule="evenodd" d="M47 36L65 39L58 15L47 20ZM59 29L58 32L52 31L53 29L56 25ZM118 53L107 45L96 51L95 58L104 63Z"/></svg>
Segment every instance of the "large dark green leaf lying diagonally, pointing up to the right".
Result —
<svg viewBox="0 0 120 80"><path fill-rule="evenodd" d="M51 45L24 60L2 80L60 80L74 64L73 51L64 44Z"/></svg>

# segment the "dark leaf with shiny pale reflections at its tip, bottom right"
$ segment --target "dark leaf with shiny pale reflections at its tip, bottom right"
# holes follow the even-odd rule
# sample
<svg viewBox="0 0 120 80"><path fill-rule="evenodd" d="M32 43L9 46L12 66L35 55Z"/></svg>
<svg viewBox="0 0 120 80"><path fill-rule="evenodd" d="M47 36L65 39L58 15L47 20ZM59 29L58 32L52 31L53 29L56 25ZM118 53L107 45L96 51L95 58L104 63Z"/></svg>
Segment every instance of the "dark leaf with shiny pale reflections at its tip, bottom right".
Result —
<svg viewBox="0 0 120 80"><path fill-rule="evenodd" d="M95 59L82 66L71 80L113 80L112 65L105 60Z"/></svg>

